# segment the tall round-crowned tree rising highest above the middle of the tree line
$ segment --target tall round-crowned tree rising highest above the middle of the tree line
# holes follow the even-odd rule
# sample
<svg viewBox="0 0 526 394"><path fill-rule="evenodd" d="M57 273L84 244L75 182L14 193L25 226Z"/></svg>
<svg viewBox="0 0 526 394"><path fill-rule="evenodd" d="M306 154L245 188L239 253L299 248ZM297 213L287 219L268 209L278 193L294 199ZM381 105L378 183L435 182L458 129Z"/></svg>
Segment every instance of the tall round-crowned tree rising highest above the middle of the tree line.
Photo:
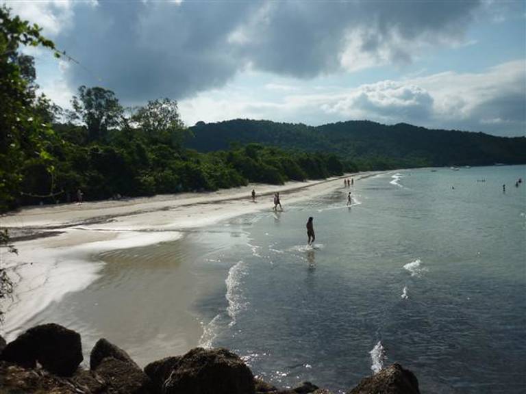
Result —
<svg viewBox="0 0 526 394"><path fill-rule="evenodd" d="M124 109L115 93L104 88L79 88L79 96L73 96L70 114L73 121L84 122L88 129L88 142L105 140L108 130L118 127L123 118Z"/></svg>

